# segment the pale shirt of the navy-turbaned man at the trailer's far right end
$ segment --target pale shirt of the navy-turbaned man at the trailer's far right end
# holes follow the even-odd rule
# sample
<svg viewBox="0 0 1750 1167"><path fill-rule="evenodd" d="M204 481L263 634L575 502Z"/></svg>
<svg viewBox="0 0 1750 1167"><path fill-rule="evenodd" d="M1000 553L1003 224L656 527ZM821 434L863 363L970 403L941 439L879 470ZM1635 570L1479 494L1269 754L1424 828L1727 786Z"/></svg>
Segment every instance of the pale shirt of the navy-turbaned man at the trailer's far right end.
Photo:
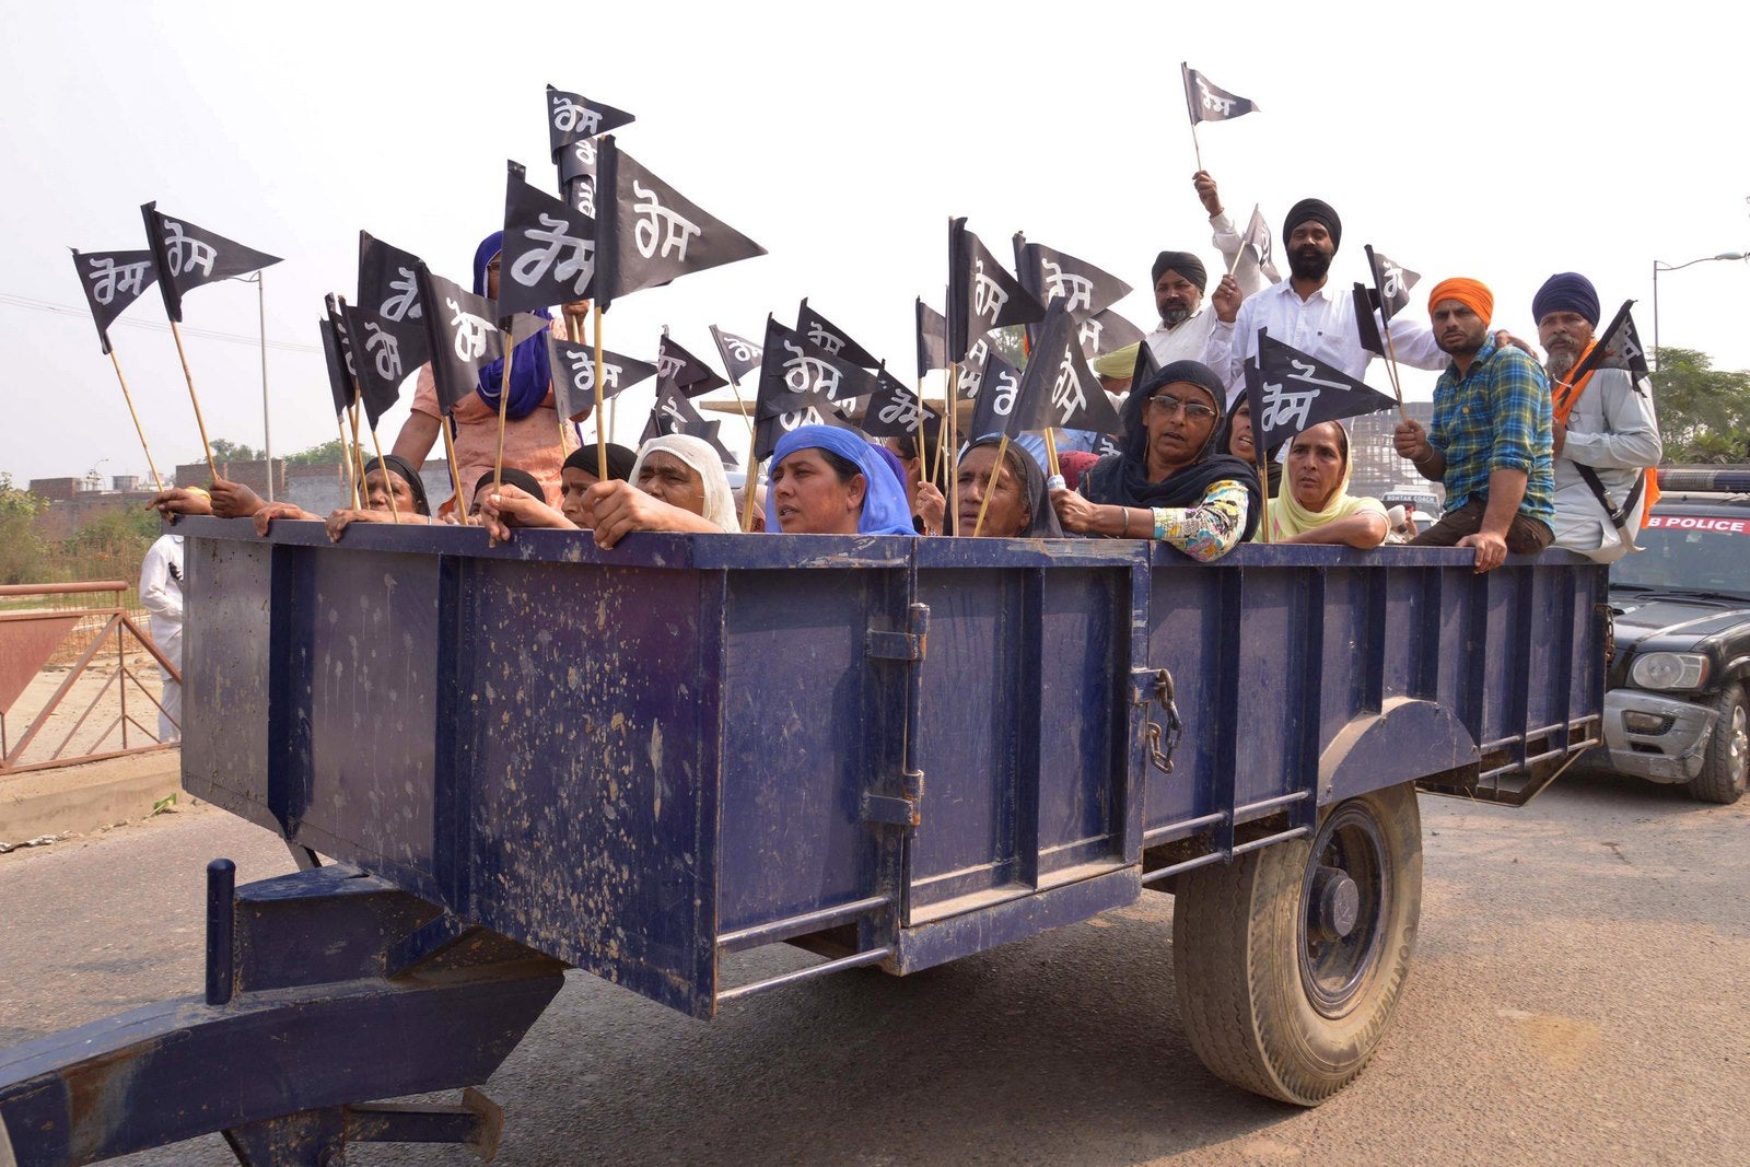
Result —
<svg viewBox="0 0 1750 1167"><path fill-rule="evenodd" d="M1598 495L1580 478L1575 464L1592 467L1598 481L1614 506L1622 506L1634 488L1642 467L1659 465L1664 443L1659 439L1659 422L1654 416L1652 394L1645 383L1622 369L1598 369L1573 402L1568 415L1568 436L1556 455L1556 546L1578 551L1600 563L1612 563L1628 555ZM1642 495L1629 514L1628 530L1640 530L1647 497Z"/></svg>

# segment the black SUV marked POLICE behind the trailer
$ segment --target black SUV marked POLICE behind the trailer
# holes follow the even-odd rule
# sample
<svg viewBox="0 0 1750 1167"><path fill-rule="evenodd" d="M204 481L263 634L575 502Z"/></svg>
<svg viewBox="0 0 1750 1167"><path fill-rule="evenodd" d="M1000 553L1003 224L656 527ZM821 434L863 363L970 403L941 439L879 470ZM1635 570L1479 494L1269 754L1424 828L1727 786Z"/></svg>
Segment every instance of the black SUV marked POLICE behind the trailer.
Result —
<svg viewBox="0 0 1750 1167"><path fill-rule="evenodd" d="M1617 654L1587 763L1734 803L1750 770L1750 469L1659 485L1643 549L1610 567Z"/></svg>

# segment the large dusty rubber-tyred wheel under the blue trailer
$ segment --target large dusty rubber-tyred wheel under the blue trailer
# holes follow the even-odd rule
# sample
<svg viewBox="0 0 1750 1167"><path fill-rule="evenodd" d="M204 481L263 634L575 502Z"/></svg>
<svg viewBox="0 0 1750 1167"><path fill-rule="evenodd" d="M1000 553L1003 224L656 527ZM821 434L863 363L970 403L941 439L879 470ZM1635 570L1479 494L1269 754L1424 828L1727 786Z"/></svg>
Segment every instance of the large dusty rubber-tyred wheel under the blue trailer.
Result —
<svg viewBox="0 0 1750 1167"><path fill-rule="evenodd" d="M1416 948L1421 814L1405 782L1297 838L1180 877L1172 959L1192 1048L1297 1106L1346 1087L1386 1032Z"/></svg>

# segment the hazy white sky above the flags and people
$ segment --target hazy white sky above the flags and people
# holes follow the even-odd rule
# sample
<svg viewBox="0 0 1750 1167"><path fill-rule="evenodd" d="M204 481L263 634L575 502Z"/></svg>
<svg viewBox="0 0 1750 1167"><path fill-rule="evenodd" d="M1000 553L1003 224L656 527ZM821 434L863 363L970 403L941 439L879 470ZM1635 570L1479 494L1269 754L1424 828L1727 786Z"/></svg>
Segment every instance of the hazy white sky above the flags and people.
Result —
<svg viewBox="0 0 1750 1167"><path fill-rule="evenodd" d="M520 21L506 19L522 14ZM1302 196L1424 280L1470 275L1531 334L1554 271L1628 297L1652 343L1654 261L1750 250L1750 96L1720 5L621 5L32 3L0 0L0 472L145 474L68 247L144 247L158 199L285 262L266 273L275 453L334 436L322 294L354 292L360 227L467 280L499 226L504 159L546 164L544 86L637 115L621 147L770 255L639 292L611 348L758 336L810 303L910 369L912 297L942 306L950 215L1143 289L1160 248L1214 268L1192 191L1178 63L1262 112L1200 128L1230 213L1272 224ZM1424 283L1423 290L1432 283ZM1418 306L1421 301L1416 301ZM1750 367L1750 266L1659 280L1661 341ZM1152 299L1120 311L1153 327ZM116 343L159 469L200 457L156 292ZM256 289L186 301L208 432L259 446ZM192 331L247 338L234 343ZM1376 364L1370 378L1384 385ZM1412 395L1432 376L1407 378ZM411 395L411 387L410 387ZM649 408L632 390L620 437ZM385 448L406 409L383 420ZM740 423L724 425L732 448Z"/></svg>

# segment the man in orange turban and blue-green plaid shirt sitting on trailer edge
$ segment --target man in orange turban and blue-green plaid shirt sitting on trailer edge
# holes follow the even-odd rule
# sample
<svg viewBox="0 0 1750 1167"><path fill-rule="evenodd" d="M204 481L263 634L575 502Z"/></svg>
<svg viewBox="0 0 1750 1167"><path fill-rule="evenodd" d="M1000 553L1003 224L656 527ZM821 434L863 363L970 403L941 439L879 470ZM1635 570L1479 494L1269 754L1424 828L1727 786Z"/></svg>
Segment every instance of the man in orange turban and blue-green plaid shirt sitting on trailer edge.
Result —
<svg viewBox="0 0 1750 1167"><path fill-rule="evenodd" d="M1477 280L1435 285L1428 315L1452 362L1433 388L1432 429L1404 420L1393 434L1423 478L1446 485L1446 514L1410 546L1474 548L1477 572L1547 548L1556 516L1549 380L1530 353L1496 345L1493 311Z"/></svg>

